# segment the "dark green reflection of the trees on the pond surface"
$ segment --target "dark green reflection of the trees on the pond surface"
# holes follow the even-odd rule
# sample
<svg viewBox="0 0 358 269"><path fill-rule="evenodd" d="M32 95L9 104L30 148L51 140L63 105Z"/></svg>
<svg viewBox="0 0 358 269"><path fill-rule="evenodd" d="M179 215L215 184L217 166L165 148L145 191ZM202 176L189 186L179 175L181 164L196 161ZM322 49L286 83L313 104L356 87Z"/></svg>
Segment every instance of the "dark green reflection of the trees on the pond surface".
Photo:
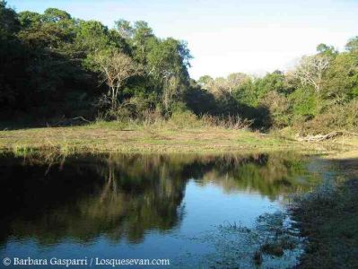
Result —
<svg viewBox="0 0 358 269"><path fill-rule="evenodd" d="M139 243L149 230L166 232L179 225L188 180L203 187L215 184L226 192L258 192L274 200L311 186L311 180L302 179L304 159L287 152L2 156L0 240L34 238L46 245L104 236Z"/></svg>

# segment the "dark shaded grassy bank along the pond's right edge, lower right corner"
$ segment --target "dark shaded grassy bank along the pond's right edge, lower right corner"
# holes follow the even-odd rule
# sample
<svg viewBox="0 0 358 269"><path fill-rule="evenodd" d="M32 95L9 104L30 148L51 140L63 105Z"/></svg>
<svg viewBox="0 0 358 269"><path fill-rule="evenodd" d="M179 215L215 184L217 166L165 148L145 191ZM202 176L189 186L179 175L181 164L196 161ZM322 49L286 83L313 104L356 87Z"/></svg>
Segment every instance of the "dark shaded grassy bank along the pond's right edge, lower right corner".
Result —
<svg viewBox="0 0 358 269"><path fill-rule="evenodd" d="M293 217L308 239L301 268L358 268L356 153L335 160L340 170L336 185L299 198L293 208Z"/></svg>

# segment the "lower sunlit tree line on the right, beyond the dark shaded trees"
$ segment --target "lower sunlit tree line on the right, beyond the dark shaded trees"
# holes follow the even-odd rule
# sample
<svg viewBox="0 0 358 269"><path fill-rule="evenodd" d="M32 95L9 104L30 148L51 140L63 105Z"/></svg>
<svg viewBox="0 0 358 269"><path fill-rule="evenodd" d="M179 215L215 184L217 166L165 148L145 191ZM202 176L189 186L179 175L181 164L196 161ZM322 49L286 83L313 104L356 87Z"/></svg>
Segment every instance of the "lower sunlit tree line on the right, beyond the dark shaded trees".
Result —
<svg viewBox="0 0 358 269"><path fill-rule="evenodd" d="M205 75L197 83L217 100L243 108L243 114L249 111L245 106L261 110L256 117L257 122L264 119L260 126L296 126L312 132L354 129L358 127L358 37L348 41L344 52L319 44L316 55L302 56L286 73L275 71L263 77L234 73L215 79Z"/></svg>

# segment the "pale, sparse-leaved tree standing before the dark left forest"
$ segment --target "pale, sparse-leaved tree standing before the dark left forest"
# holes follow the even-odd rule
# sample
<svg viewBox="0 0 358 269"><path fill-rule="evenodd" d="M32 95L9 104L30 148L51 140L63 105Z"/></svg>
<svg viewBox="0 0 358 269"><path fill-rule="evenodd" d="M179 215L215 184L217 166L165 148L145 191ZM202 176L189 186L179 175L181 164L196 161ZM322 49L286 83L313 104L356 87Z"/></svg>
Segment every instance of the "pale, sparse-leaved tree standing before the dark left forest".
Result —
<svg viewBox="0 0 358 269"><path fill-rule="evenodd" d="M136 64L130 56L111 50L102 52L94 57L95 63L100 67L103 82L109 86L109 99L111 108L118 108L118 95L130 77L143 74L143 68Z"/></svg>

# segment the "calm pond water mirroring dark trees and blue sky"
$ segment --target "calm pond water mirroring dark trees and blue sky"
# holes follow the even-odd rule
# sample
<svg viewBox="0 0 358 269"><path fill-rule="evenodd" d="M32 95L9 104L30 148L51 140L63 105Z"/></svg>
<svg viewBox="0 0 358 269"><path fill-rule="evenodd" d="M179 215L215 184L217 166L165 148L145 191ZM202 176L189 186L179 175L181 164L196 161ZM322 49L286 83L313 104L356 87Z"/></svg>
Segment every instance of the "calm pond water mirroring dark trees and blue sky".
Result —
<svg viewBox="0 0 358 269"><path fill-rule="evenodd" d="M286 195L309 191L325 173L325 161L293 152L1 156L0 257L251 268L258 246L238 227L283 212ZM292 266L298 255L264 258L263 267Z"/></svg>

